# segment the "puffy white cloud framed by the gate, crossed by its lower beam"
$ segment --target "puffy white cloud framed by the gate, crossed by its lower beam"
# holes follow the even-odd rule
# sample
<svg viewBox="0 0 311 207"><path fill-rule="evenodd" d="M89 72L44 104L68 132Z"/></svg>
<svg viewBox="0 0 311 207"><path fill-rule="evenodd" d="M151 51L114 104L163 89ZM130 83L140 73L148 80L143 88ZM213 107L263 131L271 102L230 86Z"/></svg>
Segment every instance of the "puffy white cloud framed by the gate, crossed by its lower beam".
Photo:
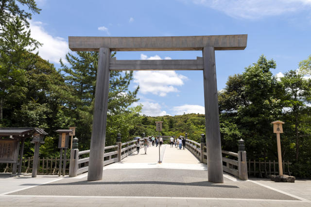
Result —
<svg viewBox="0 0 311 207"><path fill-rule="evenodd" d="M170 60L170 57L165 57ZM141 60L162 60L158 55L148 57L145 54L140 54ZM171 92L179 92L174 86L181 86L186 76L177 74L173 70L167 71L135 71L134 82L139 84L142 94L152 93L158 96L166 96Z"/></svg>

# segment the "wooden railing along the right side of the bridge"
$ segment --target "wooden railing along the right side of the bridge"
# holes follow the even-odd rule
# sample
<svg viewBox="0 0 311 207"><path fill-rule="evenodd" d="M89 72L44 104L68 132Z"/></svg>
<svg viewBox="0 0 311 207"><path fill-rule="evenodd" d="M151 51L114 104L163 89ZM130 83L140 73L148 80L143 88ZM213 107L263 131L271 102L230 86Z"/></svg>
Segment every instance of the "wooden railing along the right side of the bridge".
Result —
<svg viewBox="0 0 311 207"><path fill-rule="evenodd" d="M204 138L202 137L202 140ZM202 163L207 163L206 143L197 143L186 139L186 148L197 157ZM247 180L247 160L244 141L239 140L239 152L229 152L222 150L223 170L226 173L235 175L242 180Z"/></svg>

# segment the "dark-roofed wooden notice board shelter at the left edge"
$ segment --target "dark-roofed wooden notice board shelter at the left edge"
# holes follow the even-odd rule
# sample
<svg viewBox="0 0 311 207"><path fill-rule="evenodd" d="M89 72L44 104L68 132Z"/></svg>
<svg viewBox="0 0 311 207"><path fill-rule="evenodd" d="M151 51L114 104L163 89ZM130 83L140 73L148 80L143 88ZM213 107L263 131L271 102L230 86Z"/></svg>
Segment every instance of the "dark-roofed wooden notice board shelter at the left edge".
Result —
<svg viewBox="0 0 311 207"><path fill-rule="evenodd" d="M0 163L13 163L12 174L21 173L25 139L32 139L32 143L44 143L47 135L42 128L35 127L5 127L0 128ZM21 146L20 146L21 145ZM37 147L38 154L39 148Z"/></svg>

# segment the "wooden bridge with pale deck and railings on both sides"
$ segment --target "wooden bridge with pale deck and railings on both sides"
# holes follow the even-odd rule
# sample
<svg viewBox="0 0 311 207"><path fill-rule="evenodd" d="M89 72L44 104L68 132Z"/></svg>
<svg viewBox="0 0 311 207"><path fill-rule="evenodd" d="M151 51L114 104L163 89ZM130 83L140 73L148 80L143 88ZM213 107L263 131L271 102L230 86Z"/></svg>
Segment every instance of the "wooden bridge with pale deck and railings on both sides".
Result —
<svg viewBox="0 0 311 207"><path fill-rule="evenodd" d="M76 139L73 142L77 143L77 141L78 140ZM111 163L119 163L119 165L125 163L156 164L159 160L158 148L150 144L147 148L147 154L145 154L143 144L141 143L141 149L138 155L136 142L137 141L134 140L126 143L117 142L116 145L106 146L103 156L104 166ZM240 142L241 151L238 153L222 150L223 170L224 172L234 175L241 180L247 180L246 152L243 147L243 141ZM88 172L89 153L90 150L79 151L78 149L73 149L71 151L69 166L70 177L75 177ZM163 144L162 147L160 147L160 160L164 165L168 165L169 163L171 166L173 163L196 164L199 168L205 167L207 169L207 159L206 143L197 143L186 139L185 150L180 150L178 147L171 147L166 144Z"/></svg>

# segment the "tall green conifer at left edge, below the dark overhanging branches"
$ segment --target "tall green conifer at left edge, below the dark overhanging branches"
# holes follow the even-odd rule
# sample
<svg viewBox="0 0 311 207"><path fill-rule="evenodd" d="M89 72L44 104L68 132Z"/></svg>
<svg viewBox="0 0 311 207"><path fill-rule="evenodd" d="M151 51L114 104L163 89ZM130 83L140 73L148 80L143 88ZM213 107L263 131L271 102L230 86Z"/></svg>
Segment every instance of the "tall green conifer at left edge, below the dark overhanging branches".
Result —
<svg viewBox="0 0 311 207"><path fill-rule="evenodd" d="M34 61L35 54L31 52L40 45L30 37L30 30L18 16L3 28L0 33L0 121L6 101L16 104L25 98L25 69Z"/></svg>

